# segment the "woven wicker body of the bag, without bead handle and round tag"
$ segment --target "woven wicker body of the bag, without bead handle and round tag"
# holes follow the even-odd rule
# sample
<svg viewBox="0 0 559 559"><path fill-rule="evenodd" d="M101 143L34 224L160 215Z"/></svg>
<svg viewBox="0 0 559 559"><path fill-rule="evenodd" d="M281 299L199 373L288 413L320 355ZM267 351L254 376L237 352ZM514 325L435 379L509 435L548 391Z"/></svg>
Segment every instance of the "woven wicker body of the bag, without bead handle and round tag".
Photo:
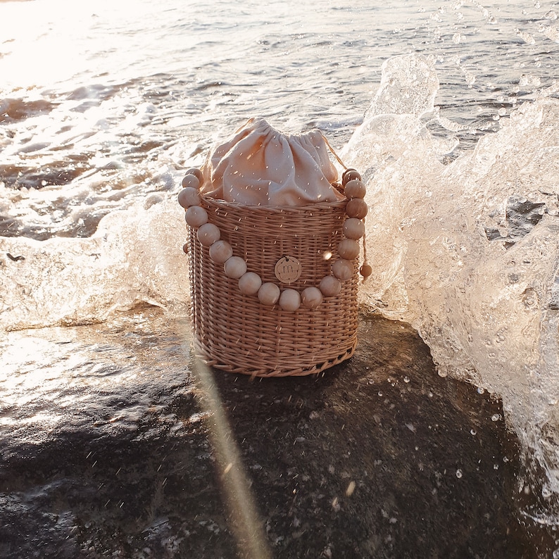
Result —
<svg viewBox="0 0 559 559"><path fill-rule="evenodd" d="M217 225L234 256L263 282L301 292L318 287L331 274L343 239L346 201L302 207L243 206L203 198L201 206ZM213 263L209 249L189 227L188 252L194 351L208 365L259 377L309 375L353 355L357 343L358 259L339 295L325 297L313 310L286 311L265 306L256 295L239 291L237 279ZM331 259L325 258L327 253ZM282 256L297 258L301 277L280 284L275 264Z"/></svg>

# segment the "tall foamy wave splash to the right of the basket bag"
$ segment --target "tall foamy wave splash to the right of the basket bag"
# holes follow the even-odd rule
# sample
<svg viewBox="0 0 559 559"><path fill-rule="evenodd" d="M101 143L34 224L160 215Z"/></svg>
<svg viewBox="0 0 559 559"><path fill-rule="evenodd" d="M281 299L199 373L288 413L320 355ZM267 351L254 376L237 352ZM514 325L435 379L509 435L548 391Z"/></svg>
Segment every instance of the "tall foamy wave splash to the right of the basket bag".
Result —
<svg viewBox="0 0 559 559"><path fill-rule="evenodd" d="M390 103L398 106L397 99ZM368 180L366 243L375 272L361 299L417 328L441 375L503 398L524 444L527 479L553 523L559 520L559 102L525 104L448 165L417 116L378 114L373 103L342 153ZM544 486L536 470L544 471Z"/></svg>

